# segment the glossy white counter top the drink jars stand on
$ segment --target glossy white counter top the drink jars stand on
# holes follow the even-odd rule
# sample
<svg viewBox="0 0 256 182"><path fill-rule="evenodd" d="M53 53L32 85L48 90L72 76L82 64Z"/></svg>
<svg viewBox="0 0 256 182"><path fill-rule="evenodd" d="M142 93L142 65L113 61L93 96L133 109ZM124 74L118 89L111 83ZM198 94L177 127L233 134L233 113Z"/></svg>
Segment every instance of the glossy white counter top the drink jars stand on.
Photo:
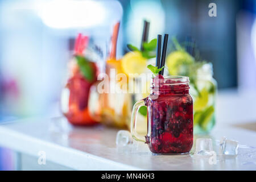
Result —
<svg viewBox="0 0 256 182"><path fill-rule="evenodd" d="M117 131L104 126L72 127L60 118L23 119L0 125L0 146L33 156L44 151L46 161L81 170L256 170L256 154L244 151L237 157L217 158L216 165L210 165L208 157L193 155L123 153L115 146ZM210 138L223 136L256 147L254 131L219 124Z"/></svg>

